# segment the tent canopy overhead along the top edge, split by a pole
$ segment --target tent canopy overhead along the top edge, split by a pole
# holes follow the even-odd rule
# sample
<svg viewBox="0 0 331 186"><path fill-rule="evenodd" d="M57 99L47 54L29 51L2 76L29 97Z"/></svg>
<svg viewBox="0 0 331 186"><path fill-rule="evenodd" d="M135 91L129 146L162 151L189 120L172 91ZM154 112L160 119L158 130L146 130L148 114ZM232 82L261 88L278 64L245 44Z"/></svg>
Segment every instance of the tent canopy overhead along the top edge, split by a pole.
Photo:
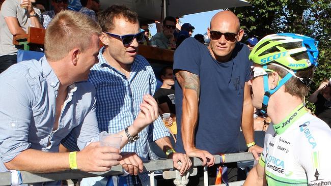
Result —
<svg viewBox="0 0 331 186"><path fill-rule="evenodd" d="M233 7L250 6L244 0L168 0L168 15L179 17L188 14L206 12L211 10L226 9ZM161 21L162 0L103 0L100 1L101 9L111 5L125 5L138 13L141 21Z"/></svg>

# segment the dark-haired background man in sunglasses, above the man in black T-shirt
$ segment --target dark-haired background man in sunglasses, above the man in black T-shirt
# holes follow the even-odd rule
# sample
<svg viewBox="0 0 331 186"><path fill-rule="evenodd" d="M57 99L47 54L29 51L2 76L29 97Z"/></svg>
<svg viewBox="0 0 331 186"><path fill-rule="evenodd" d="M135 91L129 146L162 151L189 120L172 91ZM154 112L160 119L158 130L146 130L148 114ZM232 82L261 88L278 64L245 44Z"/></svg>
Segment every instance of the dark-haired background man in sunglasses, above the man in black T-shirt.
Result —
<svg viewBox="0 0 331 186"><path fill-rule="evenodd" d="M156 46L164 49L176 48L174 32L176 29L176 18L168 16L163 20L163 30L156 33L152 39L156 41Z"/></svg>

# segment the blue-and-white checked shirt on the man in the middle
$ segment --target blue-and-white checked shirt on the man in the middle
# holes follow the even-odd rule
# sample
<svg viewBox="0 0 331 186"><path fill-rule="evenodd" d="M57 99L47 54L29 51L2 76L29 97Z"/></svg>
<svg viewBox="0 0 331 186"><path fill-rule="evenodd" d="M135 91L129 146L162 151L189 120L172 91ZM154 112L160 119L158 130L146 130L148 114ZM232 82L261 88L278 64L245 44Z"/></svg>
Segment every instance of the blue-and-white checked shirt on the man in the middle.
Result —
<svg viewBox="0 0 331 186"><path fill-rule="evenodd" d="M137 55L131 66L130 78L107 64L100 49L99 63L94 65L89 75L89 81L96 88L97 119L100 131L118 133L133 123L138 115L139 105L146 94L154 95L156 79L152 67L141 55ZM135 152L143 160L148 160L147 137L153 141L170 136L160 117L153 125L139 133L140 138L128 143L122 152ZM148 174L139 175L142 181L148 180ZM127 183L133 185L131 176Z"/></svg>

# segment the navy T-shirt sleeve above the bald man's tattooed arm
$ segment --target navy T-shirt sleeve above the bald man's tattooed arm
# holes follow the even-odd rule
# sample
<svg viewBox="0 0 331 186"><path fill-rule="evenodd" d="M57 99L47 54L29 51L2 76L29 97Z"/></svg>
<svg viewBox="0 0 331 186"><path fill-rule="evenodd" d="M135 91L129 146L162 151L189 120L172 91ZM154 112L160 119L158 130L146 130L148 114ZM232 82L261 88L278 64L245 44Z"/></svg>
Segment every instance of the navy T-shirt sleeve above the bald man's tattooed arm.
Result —
<svg viewBox="0 0 331 186"><path fill-rule="evenodd" d="M185 70L199 76L202 52L200 47L196 39L185 39L175 51L174 71Z"/></svg>

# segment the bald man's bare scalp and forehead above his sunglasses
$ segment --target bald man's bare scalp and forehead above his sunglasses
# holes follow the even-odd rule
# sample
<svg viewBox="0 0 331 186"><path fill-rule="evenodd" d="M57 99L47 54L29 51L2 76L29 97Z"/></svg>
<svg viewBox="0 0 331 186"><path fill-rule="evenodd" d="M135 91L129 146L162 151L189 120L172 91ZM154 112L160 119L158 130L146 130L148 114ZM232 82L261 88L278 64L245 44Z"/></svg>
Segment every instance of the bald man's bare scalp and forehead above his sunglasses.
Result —
<svg viewBox="0 0 331 186"><path fill-rule="evenodd" d="M240 30L240 22L238 17L233 12L228 10L220 11L211 18L211 28L218 27L219 25L236 28L237 30L233 30L234 33Z"/></svg>

